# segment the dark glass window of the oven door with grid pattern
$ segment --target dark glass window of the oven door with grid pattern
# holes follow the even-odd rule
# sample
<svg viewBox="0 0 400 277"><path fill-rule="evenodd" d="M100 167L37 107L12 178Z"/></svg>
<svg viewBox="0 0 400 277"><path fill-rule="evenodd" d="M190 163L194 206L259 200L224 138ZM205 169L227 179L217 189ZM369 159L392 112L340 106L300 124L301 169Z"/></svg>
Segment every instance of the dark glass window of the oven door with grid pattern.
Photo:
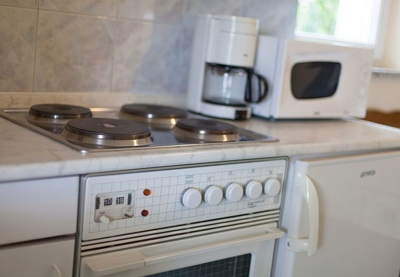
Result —
<svg viewBox="0 0 400 277"><path fill-rule="evenodd" d="M250 276L251 254L202 263L146 277L248 277Z"/></svg>

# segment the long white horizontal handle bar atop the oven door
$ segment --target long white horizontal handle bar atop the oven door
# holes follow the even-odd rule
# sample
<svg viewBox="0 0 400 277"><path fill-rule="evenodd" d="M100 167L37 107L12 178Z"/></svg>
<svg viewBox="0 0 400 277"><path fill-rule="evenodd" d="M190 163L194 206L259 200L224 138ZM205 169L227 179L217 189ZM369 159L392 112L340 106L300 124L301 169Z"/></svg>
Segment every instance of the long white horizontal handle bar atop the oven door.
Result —
<svg viewBox="0 0 400 277"><path fill-rule="evenodd" d="M250 243L258 243L260 241L278 239L283 237L283 235L284 235L283 231L281 231L278 228L272 227L268 228L268 233L266 234L254 235L251 237L234 239L231 241L224 241L220 243L213 243L211 245L203 245L199 247L193 247L190 249L184 249L160 255L146 256L141 252L135 252L126 255L108 257L105 259L87 261L86 268L89 269L92 276L106 276L121 271L138 269L141 267L145 267L147 265L155 265L158 263L172 261L180 259L182 257L205 254L208 252L227 249L230 247L237 247L240 245L247 245Z"/></svg>

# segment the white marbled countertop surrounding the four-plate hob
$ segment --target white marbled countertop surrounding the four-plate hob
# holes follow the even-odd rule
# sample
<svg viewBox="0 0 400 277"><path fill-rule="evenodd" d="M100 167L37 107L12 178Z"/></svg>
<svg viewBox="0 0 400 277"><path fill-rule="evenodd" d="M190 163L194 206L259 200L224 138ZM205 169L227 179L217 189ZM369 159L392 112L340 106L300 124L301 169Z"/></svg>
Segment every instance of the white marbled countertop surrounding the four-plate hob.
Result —
<svg viewBox="0 0 400 277"><path fill-rule="evenodd" d="M255 118L236 125L278 138L276 143L201 145L81 154L0 118L0 181L263 157L400 148L400 130L362 120Z"/></svg>

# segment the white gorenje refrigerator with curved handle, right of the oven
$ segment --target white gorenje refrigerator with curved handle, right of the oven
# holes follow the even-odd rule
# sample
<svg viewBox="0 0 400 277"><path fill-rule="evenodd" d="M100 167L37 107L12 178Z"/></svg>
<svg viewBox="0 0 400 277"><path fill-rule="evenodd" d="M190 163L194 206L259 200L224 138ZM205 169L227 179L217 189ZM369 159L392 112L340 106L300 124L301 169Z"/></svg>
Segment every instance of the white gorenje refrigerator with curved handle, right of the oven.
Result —
<svg viewBox="0 0 400 277"><path fill-rule="evenodd" d="M398 277L400 152L292 161L276 277Z"/></svg>

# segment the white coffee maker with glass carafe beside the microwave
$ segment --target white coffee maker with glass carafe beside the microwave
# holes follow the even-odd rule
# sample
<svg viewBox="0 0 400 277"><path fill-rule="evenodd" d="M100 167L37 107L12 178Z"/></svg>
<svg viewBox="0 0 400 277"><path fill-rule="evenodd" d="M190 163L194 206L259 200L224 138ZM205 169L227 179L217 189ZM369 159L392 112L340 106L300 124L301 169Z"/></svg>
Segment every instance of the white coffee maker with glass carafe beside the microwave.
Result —
<svg viewBox="0 0 400 277"><path fill-rule="evenodd" d="M257 35L256 18L198 16L190 66L189 110L217 118L250 118L248 103L260 102L268 90L265 78L253 72Z"/></svg>

